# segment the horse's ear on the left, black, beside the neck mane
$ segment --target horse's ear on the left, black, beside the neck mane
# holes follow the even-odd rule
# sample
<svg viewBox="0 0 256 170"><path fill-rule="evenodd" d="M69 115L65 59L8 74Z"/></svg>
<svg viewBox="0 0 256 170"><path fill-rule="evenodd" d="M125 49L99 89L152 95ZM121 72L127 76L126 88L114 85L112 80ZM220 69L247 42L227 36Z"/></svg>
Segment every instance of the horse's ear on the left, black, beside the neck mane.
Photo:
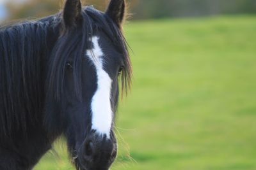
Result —
<svg viewBox="0 0 256 170"><path fill-rule="evenodd" d="M80 0L67 0L63 11L65 27L76 26L79 18L82 17L82 4Z"/></svg>

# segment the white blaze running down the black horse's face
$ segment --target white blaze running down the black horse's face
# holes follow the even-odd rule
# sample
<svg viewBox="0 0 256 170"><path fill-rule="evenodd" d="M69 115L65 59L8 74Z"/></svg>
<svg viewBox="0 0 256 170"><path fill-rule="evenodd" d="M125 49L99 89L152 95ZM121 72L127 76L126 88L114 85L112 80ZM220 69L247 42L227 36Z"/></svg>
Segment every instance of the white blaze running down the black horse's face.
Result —
<svg viewBox="0 0 256 170"><path fill-rule="evenodd" d="M109 138L112 124L112 110L110 103L110 93L112 80L103 69L103 55L99 38L92 38L93 49L87 50L86 55L93 62L97 73L97 90L92 98L92 130L100 134L106 134Z"/></svg>

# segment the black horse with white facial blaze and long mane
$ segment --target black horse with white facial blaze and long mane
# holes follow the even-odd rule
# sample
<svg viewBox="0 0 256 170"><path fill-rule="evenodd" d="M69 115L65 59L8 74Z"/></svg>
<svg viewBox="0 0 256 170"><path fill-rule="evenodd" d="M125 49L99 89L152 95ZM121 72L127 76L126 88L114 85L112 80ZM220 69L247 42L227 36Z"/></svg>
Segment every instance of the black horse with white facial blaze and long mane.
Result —
<svg viewBox="0 0 256 170"><path fill-rule="evenodd" d="M125 9L67 0L56 15L0 28L0 169L33 169L61 136L76 169L111 167L132 76Z"/></svg>

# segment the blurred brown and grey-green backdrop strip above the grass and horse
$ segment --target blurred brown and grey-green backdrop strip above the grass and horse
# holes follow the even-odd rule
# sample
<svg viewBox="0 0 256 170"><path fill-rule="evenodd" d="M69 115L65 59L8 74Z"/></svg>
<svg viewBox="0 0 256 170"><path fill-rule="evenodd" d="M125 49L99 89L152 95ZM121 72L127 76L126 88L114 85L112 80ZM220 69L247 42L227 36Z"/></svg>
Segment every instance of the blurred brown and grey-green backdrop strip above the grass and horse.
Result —
<svg viewBox="0 0 256 170"><path fill-rule="evenodd" d="M60 10L64 0L0 0L0 18L42 17ZM109 0L84 0L104 10ZM132 20L256 13L255 0L127 0Z"/></svg>

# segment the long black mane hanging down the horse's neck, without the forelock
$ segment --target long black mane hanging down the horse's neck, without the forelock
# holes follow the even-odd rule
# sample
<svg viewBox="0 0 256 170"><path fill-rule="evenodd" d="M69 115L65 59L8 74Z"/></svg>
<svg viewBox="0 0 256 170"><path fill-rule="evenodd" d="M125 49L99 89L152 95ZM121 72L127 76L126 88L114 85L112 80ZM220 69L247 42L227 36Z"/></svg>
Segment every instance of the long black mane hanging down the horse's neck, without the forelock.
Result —
<svg viewBox="0 0 256 170"><path fill-rule="evenodd" d="M42 112L51 24L49 17L0 28L0 138L26 131Z"/></svg>

